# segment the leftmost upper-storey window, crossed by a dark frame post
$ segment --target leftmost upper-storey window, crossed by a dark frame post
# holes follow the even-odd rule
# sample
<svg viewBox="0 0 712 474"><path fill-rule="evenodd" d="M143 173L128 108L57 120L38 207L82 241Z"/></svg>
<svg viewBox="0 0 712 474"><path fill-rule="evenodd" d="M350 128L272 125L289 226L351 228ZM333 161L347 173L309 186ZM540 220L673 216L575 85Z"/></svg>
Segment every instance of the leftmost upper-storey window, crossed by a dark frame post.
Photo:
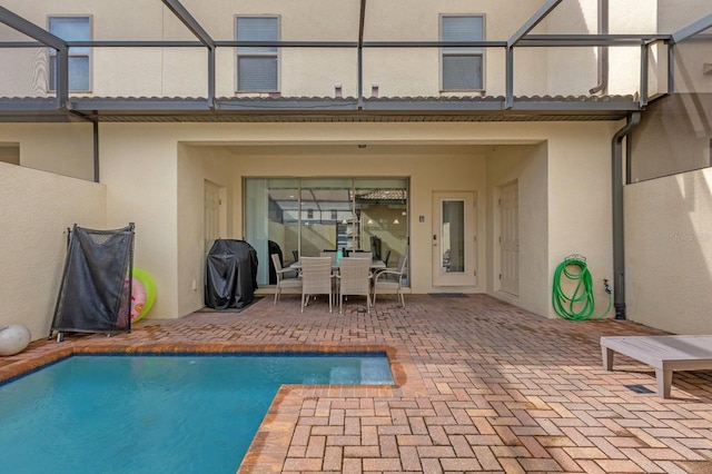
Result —
<svg viewBox="0 0 712 474"><path fill-rule="evenodd" d="M89 17L51 17L50 33L66 41L89 41L91 24ZM89 91L90 49L69 48L69 90ZM57 90L57 51L49 52L49 90Z"/></svg>

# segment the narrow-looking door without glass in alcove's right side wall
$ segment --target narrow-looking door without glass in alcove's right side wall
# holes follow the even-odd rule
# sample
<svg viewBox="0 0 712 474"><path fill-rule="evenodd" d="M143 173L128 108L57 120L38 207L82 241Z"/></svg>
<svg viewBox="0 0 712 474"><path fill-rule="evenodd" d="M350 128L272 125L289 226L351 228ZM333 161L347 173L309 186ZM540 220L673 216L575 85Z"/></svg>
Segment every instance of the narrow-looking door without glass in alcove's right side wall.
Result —
<svg viewBox="0 0 712 474"><path fill-rule="evenodd" d="M520 295L520 195L517 182L501 188L500 192L500 289Z"/></svg>

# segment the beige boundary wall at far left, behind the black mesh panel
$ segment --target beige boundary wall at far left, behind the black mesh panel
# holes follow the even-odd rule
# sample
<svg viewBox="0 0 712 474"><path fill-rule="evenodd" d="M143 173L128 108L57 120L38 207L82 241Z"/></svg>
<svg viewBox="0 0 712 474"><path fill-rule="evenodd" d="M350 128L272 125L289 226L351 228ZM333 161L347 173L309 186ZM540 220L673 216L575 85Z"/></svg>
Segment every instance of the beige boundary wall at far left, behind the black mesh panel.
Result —
<svg viewBox="0 0 712 474"><path fill-rule="evenodd" d="M106 228L106 187L0 162L0 326L49 334L67 228Z"/></svg>

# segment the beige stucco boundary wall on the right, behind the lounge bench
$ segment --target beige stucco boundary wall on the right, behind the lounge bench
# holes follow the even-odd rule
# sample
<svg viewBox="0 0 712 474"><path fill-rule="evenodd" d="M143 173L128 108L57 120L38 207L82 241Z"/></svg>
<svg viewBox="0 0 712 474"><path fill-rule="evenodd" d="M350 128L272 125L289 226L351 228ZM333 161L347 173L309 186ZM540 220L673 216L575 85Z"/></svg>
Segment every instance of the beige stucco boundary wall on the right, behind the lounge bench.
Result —
<svg viewBox="0 0 712 474"><path fill-rule="evenodd" d="M712 334L712 170L625 187L627 318Z"/></svg>

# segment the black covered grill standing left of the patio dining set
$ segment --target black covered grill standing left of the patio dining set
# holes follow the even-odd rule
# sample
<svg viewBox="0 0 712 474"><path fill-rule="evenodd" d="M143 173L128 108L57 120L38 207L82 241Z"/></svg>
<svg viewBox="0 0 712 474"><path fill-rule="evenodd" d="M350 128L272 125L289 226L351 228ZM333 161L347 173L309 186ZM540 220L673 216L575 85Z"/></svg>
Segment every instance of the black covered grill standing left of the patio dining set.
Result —
<svg viewBox="0 0 712 474"><path fill-rule="evenodd" d="M245 240L218 239L205 266L205 305L243 308L255 298L257 251Z"/></svg>

